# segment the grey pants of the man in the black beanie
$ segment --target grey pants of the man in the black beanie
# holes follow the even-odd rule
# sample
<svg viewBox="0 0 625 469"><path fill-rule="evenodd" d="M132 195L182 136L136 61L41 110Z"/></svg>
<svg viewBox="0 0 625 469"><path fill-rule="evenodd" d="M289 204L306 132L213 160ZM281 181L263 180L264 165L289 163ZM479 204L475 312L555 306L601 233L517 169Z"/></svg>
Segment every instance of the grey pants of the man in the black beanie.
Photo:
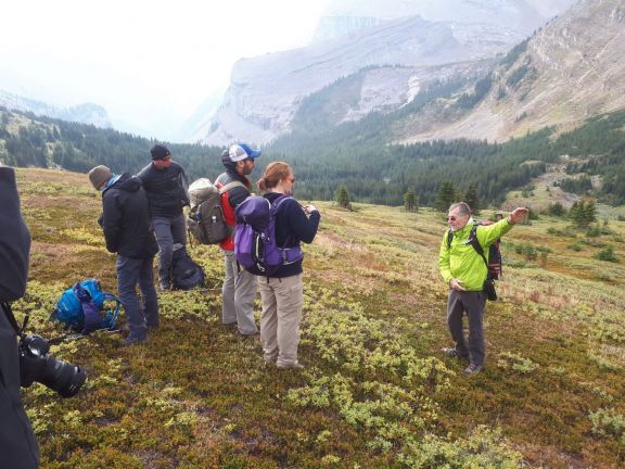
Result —
<svg viewBox="0 0 625 469"><path fill-rule="evenodd" d="M158 280L161 288L169 289L171 283L171 256L174 254L174 244L187 245L187 224L184 215L176 217L152 218L152 227L158 243Z"/></svg>

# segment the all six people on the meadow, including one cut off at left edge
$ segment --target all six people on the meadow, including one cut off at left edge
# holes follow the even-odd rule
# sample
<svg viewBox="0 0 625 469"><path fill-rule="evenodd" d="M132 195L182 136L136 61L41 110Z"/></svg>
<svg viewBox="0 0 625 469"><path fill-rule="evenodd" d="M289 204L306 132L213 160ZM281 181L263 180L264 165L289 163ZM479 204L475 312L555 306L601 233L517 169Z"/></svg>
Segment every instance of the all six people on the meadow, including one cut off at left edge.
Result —
<svg viewBox="0 0 625 469"><path fill-rule="evenodd" d="M196 283L196 277L190 277L191 283L180 283L173 275L177 259L194 265L186 253L189 227L202 242L218 243L224 252L222 324L235 327L242 338L259 337L267 365L303 368L297 358L303 308L301 243L312 242L320 214L312 205L301 206L291 195L295 175L286 163L267 165L257 183L264 194L253 195L248 176L260 154L245 143L225 150L221 161L226 170L206 191L216 197L205 201L190 197L184 170L162 144L152 148L152 161L137 176L116 175L106 166L89 172L89 180L102 193L99 224L106 249L117 254L117 290L129 330L126 345L144 342L148 333L158 328L153 277L157 253L162 291ZM20 385L27 384L21 380L22 352L18 354L16 339L21 335L24 340L24 335L9 304L25 293L30 236L20 212L12 168L0 167L0 303L4 313L0 314L0 454L7 467L33 468L38 465L39 451L20 396ZM192 205L187 219L186 205ZM492 269L496 255L488 249L526 214L526 208L518 207L506 218L482 224L471 217L465 203L449 207L438 266L448 287L447 325L455 345L442 351L468 359L467 375L483 367L484 308L487 299L496 297ZM263 304L259 333L254 317L257 289ZM81 385L84 377L77 382Z"/></svg>

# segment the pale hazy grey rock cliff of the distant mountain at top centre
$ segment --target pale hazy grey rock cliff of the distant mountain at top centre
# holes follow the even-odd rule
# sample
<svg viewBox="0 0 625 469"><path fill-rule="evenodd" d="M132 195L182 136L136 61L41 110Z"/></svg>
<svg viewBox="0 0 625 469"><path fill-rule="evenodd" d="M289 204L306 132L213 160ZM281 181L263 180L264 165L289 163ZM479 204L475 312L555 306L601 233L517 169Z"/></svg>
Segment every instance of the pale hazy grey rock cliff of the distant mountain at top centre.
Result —
<svg viewBox="0 0 625 469"><path fill-rule="evenodd" d="M392 10L394 4L403 3L421 8L429 4L421 0L396 1L387 7ZM535 12L522 1L501 0L497 4ZM489 14L475 22L472 18L476 12L494 9L490 3L447 0L443 7L437 7L436 20L445 21L429 21L418 10L410 16L399 12L396 17L385 15L380 22L365 22L360 26L366 27L306 48L239 61L221 107L204 128L203 141L227 144L241 139L268 143L290 130L291 119L306 96L363 66L441 65L492 58L521 41L539 24L540 17L538 13L528 14L531 20L520 27L514 9L511 12L495 9L505 14L505 20ZM452 7L472 9L473 16L463 20L459 15L462 10Z"/></svg>

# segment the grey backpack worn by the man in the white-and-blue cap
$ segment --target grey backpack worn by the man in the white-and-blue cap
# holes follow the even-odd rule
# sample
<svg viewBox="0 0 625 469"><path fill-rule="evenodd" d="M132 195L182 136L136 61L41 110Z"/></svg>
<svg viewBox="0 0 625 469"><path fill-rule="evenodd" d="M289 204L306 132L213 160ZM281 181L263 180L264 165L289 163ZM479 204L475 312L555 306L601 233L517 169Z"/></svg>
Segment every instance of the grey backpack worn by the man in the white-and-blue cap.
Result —
<svg viewBox="0 0 625 469"><path fill-rule="evenodd" d="M187 227L201 244L219 244L232 233L232 227L226 224L221 207L221 195L238 186L232 181L217 189L208 179L202 178L189 186L191 211L187 217Z"/></svg>

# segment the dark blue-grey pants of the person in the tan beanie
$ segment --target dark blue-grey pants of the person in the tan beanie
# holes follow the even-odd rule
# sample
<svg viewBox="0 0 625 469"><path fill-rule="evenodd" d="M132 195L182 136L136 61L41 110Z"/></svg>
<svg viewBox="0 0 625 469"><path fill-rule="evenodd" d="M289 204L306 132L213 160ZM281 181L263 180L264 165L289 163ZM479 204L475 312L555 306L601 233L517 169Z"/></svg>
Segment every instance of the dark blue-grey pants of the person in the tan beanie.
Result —
<svg viewBox="0 0 625 469"><path fill-rule="evenodd" d="M154 257L135 259L117 256L117 294L126 312L130 337L143 338L148 327L158 326L158 301L154 288ZM143 301L137 293L137 283Z"/></svg>

